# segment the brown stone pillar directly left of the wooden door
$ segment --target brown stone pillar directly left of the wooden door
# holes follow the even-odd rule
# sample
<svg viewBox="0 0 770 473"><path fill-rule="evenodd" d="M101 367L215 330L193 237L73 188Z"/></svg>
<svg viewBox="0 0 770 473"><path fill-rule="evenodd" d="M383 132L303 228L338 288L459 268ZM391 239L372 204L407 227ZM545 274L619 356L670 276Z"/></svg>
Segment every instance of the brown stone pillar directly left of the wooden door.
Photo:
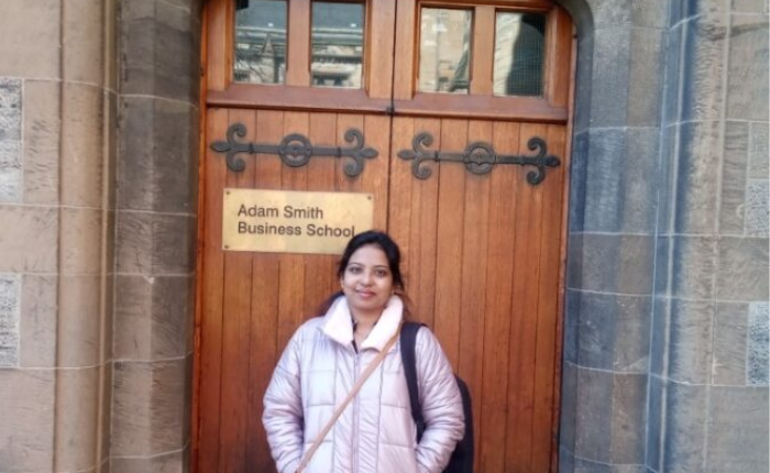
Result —
<svg viewBox="0 0 770 473"><path fill-rule="evenodd" d="M188 471L200 6L120 4L113 473Z"/></svg>

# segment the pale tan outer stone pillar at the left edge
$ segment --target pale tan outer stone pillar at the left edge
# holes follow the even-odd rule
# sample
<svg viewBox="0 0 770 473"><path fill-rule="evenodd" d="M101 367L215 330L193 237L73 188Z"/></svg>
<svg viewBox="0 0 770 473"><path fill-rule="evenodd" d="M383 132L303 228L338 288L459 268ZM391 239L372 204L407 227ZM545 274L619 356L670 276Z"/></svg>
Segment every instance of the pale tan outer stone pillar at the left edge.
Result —
<svg viewBox="0 0 770 473"><path fill-rule="evenodd" d="M0 469L108 466L114 7L0 2Z"/></svg>

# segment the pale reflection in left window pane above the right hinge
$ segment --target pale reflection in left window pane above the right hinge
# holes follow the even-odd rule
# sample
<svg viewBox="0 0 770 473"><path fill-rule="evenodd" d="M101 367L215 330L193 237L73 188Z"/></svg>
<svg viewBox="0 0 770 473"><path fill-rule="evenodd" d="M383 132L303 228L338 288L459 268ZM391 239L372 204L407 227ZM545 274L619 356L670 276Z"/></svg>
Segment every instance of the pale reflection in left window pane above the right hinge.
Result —
<svg viewBox="0 0 770 473"><path fill-rule="evenodd" d="M420 19L421 92L468 94L471 10L424 8Z"/></svg>

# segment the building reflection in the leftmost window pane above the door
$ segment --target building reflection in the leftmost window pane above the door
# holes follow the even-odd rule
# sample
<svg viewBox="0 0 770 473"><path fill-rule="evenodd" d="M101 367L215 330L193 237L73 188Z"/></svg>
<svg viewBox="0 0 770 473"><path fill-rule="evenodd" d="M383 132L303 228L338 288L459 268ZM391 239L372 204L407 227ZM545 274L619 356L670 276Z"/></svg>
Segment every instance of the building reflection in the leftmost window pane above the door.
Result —
<svg viewBox="0 0 770 473"><path fill-rule="evenodd" d="M233 80L284 84L286 0L234 0Z"/></svg>

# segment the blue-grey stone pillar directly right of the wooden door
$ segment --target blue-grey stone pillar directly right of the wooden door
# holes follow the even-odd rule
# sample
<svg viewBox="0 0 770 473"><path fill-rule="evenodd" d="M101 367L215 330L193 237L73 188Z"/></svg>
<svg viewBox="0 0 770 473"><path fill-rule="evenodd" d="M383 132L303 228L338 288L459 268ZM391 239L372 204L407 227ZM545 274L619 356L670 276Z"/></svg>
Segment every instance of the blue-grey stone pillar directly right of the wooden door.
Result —
<svg viewBox="0 0 770 473"><path fill-rule="evenodd" d="M562 3L578 22L579 57L559 470L638 472L668 2Z"/></svg>

